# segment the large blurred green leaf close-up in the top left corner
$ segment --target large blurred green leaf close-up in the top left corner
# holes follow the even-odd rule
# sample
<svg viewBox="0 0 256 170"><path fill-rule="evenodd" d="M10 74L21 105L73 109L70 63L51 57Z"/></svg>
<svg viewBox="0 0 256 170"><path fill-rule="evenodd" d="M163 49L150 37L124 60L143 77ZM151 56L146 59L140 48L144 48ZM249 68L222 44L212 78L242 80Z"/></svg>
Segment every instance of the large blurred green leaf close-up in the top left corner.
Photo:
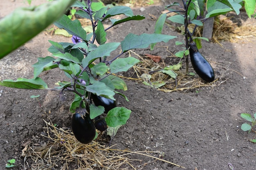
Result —
<svg viewBox="0 0 256 170"><path fill-rule="evenodd" d="M57 20L75 0L58 0L38 7L17 8L0 20L0 59Z"/></svg>

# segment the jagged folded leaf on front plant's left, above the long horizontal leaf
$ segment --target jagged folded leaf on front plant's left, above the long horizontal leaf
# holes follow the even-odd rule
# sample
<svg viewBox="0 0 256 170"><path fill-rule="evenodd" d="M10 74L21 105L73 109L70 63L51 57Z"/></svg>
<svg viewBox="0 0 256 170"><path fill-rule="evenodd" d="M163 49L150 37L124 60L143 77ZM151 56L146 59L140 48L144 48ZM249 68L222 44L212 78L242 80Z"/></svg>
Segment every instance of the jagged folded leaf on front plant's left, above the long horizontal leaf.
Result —
<svg viewBox="0 0 256 170"><path fill-rule="evenodd" d="M34 78L36 78L40 73L43 71L50 70L52 68L58 67L58 64L54 64L55 58L47 56L45 58L37 58L38 62L36 64L33 64L32 67L34 67Z"/></svg>

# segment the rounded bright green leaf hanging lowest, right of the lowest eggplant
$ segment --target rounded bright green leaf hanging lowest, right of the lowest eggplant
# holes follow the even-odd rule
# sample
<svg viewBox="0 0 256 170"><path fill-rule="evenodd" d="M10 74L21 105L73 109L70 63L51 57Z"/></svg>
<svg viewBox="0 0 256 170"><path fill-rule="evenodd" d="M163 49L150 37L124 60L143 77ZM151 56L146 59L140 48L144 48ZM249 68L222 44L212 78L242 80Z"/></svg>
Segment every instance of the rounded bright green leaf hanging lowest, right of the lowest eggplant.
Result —
<svg viewBox="0 0 256 170"><path fill-rule="evenodd" d="M106 123L110 127L126 124L132 111L124 107L115 107L108 112Z"/></svg>

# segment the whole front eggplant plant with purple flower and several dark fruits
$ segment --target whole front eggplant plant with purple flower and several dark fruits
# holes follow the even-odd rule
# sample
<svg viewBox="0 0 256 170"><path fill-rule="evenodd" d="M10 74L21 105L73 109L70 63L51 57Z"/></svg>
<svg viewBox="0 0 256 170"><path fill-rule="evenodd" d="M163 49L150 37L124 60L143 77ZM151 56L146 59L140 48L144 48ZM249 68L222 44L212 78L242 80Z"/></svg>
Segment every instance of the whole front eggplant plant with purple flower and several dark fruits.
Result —
<svg viewBox="0 0 256 170"><path fill-rule="evenodd" d="M94 139L95 126L99 130L105 130L105 125L117 127L126 124L130 117L131 110L116 105L115 94L123 96L126 101L129 100L119 92L127 90L126 83L113 73L128 71L140 61L135 57L121 56L131 49L147 48L151 43L168 42L176 37L156 33L129 33L121 42L107 43L106 35L109 29L120 23L143 20L145 17L133 15L129 7L99 7L91 0L77 0L71 7L76 7L76 14L90 21L93 31L86 32L79 20L71 20L67 15L62 15L54 24L71 34L73 43L49 40L52 46L48 51L52 55L39 57L38 62L32 65L34 78L5 79L0 81L0 86L59 91L60 99L64 98L66 92L74 93L74 100L70 105L70 112L74 113L72 129L78 141L88 143ZM125 17L117 20L113 19L115 15ZM108 20L112 24L106 27L104 22ZM121 53L111 56L112 51L117 50L119 46ZM69 81L56 80L56 87L48 88L47 83L40 78L40 73L53 69L63 71Z"/></svg>

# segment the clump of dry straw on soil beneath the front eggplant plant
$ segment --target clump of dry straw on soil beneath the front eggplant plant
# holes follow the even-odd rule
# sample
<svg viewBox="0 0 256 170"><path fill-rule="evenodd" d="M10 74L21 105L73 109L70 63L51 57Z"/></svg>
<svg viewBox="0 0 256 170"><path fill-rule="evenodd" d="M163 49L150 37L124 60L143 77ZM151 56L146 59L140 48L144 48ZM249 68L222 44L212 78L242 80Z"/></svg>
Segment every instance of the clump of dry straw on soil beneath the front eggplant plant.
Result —
<svg viewBox="0 0 256 170"><path fill-rule="evenodd" d="M45 121L45 120L44 120ZM175 166L174 163L165 161L150 154L161 152L137 151L114 149L114 146L106 147L97 141L90 144L78 142L71 130L57 128L52 122L45 121L45 132L43 136L49 139L47 144L30 143L22 150L25 169L31 170L140 170L147 163L140 159L132 159L132 154L150 157L152 161L164 161ZM137 162L139 166L134 166ZM182 166L179 166L184 168Z"/></svg>

